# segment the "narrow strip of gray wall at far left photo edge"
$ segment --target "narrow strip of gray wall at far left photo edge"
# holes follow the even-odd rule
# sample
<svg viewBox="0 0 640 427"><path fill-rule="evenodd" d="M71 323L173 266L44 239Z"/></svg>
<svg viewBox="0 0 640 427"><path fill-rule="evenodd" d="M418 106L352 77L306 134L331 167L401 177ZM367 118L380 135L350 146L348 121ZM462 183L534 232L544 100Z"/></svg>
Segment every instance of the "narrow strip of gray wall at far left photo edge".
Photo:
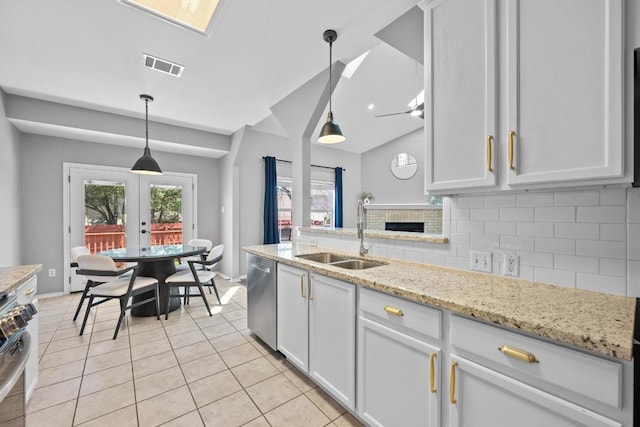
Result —
<svg viewBox="0 0 640 427"><path fill-rule="evenodd" d="M0 266L24 264L21 261L20 233L20 132L5 118L5 93L0 90Z"/></svg>

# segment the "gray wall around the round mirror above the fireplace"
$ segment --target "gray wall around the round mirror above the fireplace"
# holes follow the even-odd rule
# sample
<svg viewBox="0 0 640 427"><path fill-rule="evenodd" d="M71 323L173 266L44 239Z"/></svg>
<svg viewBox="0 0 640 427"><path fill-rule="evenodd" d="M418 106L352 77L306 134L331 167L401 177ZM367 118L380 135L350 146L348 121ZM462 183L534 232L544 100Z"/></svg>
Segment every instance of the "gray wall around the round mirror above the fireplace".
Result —
<svg viewBox="0 0 640 427"><path fill-rule="evenodd" d="M416 174L407 180L393 176L390 167L391 159L403 152L418 161ZM362 189L373 193L373 203L425 203L424 156L422 128L362 153Z"/></svg>

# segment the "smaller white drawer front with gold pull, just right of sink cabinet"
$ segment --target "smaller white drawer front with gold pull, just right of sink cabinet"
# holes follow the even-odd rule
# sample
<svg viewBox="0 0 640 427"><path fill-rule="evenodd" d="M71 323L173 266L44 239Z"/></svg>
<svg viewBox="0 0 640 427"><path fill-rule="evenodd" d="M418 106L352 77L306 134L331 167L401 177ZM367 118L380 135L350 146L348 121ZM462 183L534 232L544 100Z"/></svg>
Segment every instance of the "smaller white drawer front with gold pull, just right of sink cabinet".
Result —
<svg viewBox="0 0 640 427"><path fill-rule="evenodd" d="M360 292L361 316L402 330L410 335L442 339L442 312L366 288Z"/></svg>

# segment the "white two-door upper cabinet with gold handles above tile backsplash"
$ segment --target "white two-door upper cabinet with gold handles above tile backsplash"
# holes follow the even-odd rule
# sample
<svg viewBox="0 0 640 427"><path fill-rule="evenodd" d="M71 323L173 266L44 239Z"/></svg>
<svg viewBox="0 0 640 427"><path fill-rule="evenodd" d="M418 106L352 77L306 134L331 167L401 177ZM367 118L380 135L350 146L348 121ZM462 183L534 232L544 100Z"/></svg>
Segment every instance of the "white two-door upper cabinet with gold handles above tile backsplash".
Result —
<svg viewBox="0 0 640 427"><path fill-rule="evenodd" d="M424 8L426 192L623 181L623 0Z"/></svg>

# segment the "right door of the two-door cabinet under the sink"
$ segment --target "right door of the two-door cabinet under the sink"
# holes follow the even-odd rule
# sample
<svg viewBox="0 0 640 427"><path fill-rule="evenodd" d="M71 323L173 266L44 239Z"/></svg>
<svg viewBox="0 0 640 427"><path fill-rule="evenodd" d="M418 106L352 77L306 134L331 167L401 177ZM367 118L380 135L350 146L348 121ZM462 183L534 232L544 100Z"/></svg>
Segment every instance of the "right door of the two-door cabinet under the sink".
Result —
<svg viewBox="0 0 640 427"><path fill-rule="evenodd" d="M309 375L340 403L355 409L356 286L311 274Z"/></svg>

